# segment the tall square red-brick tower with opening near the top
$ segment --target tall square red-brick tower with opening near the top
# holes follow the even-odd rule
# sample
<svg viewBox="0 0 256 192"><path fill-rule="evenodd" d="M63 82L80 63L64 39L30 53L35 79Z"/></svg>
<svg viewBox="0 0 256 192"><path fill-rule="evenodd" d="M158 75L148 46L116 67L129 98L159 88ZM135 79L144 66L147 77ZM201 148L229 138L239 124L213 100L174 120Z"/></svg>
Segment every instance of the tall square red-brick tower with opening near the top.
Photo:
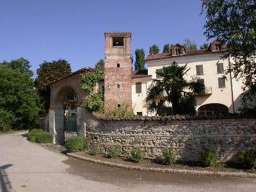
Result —
<svg viewBox="0 0 256 192"><path fill-rule="evenodd" d="M104 104L107 112L132 107L131 32L105 33Z"/></svg>

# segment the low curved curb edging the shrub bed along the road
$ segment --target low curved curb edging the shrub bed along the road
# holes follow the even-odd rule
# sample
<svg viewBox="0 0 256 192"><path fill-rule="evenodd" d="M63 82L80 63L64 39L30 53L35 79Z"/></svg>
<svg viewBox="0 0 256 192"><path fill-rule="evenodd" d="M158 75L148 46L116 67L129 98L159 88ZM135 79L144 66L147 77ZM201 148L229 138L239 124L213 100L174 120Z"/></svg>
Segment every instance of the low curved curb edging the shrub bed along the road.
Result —
<svg viewBox="0 0 256 192"><path fill-rule="evenodd" d="M111 163L108 161L101 161L97 159L90 159L88 157L78 156L76 154L69 154L67 156L73 157L82 161L88 161L91 163L102 164L106 166L122 168L125 170L138 170L146 172L158 172L158 173L175 173L184 175L204 175L204 176L218 176L218 177L241 177L241 178L256 178L256 173L244 173L244 172L209 172L209 171L198 171L198 170L182 170L173 168L147 168L141 166L130 166L120 163Z"/></svg>

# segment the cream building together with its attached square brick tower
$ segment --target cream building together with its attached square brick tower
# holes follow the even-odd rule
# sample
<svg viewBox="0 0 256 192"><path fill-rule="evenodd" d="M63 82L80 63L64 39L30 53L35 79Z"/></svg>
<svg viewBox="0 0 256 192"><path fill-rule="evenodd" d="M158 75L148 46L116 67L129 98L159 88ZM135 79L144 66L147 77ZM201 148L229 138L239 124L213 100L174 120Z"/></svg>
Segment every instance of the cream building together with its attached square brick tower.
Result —
<svg viewBox="0 0 256 192"><path fill-rule="evenodd" d="M200 77L205 83L205 94L196 98L198 113L238 113L241 108L242 83L225 74L229 60L221 60L225 44L215 40L208 49L187 51L176 44L168 53L150 54L146 58L147 70L132 71L131 33L105 33L105 78L104 102L106 111L113 111L122 105L134 109L135 115L147 113L145 102L148 86L157 79L157 70L171 65L187 65L186 79Z"/></svg>

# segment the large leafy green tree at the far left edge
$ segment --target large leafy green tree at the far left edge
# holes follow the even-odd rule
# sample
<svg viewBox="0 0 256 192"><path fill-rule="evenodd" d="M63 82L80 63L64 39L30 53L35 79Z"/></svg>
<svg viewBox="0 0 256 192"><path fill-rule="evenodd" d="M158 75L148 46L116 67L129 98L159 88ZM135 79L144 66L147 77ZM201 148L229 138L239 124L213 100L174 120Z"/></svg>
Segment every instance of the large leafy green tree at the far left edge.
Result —
<svg viewBox="0 0 256 192"><path fill-rule="evenodd" d="M0 131L36 127L40 108L29 61L0 63Z"/></svg>

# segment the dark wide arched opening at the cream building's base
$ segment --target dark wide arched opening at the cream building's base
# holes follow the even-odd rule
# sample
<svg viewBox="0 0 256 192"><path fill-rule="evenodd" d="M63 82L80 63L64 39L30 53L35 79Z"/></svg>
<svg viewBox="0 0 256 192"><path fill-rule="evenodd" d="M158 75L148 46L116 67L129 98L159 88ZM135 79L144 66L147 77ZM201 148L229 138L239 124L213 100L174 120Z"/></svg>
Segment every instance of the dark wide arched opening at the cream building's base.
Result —
<svg viewBox="0 0 256 192"><path fill-rule="evenodd" d="M198 108L199 115L227 114L228 107L220 103L204 104Z"/></svg>

